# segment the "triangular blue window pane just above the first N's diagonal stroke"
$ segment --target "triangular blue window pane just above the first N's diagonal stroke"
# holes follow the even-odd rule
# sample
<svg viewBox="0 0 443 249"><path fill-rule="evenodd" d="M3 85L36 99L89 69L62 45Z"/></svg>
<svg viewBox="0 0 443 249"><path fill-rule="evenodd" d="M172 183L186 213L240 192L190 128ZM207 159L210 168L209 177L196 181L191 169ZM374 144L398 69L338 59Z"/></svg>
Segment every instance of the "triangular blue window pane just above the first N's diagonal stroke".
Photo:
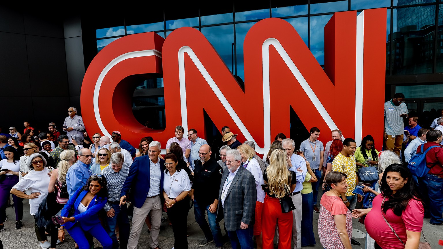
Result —
<svg viewBox="0 0 443 249"><path fill-rule="evenodd" d="M234 74L234 25L221 25L214 27L202 27L202 34L212 44L217 53L220 55L223 62Z"/></svg>

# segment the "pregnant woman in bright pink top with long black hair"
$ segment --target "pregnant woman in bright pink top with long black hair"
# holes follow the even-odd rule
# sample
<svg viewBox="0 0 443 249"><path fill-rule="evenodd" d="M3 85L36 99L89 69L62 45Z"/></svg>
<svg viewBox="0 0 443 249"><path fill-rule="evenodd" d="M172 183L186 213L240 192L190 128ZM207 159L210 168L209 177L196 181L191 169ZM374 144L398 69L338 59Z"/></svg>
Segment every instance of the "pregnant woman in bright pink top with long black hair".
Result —
<svg viewBox="0 0 443 249"><path fill-rule="evenodd" d="M373 199L372 208L353 211L354 218L367 214L365 228L375 240L376 249L418 248L424 218L423 202L411 173L403 165L394 163L386 167L381 179L381 195Z"/></svg>

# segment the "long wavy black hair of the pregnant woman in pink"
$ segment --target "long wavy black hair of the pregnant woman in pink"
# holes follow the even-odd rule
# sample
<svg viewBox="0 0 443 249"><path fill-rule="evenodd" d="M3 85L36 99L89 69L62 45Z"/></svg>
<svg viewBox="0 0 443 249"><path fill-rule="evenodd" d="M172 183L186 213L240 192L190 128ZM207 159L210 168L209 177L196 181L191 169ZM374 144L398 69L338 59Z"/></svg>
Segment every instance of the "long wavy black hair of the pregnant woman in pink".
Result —
<svg viewBox="0 0 443 249"><path fill-rule="evenodd" d="M408 178L408 181L404 184L404 186L399 189L395 194L392 193L391 188L386 182L386 175L388 172L399 172L400 176L403 179ZM386 167L385 172L383 173L383 177L381 178L381 194L384 197L388 197L389 199L383 203L383 212L386 214L386 211L392 208L392 211L395 215L401 216L401 213L406 209L408 203L411 199L418 200L422 202L424 206L424 202L420 198L420 195L416 191L416 186L414 180L412 179L411 172L409 172L407 167L404 167L400 163L393 163Z"/></svg>

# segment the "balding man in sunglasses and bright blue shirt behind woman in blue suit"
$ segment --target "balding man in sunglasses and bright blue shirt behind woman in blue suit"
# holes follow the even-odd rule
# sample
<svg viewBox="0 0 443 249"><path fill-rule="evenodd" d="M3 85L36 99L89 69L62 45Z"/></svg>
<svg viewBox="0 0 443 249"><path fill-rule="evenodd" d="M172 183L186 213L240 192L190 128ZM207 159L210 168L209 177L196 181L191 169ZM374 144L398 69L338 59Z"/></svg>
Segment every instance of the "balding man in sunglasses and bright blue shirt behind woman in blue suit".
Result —
<svg viewBox="0 0 443 249"><path fill-rule="evenodd" d="M69 198L74 195L79 187L85 186L89 177L91 177L92 152L87 148L78 151L78 161L69 167L66 173L66 187L68 188Z"/></svg>

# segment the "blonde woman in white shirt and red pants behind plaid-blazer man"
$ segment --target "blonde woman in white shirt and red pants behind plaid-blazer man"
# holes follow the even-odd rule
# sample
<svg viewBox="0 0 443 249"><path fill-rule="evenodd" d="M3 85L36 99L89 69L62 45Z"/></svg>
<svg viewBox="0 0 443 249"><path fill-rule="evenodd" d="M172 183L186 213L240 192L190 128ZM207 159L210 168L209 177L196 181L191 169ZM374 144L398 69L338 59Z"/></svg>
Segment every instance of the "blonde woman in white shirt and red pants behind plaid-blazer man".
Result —
<svg viewBox="0 0 443 249"><path fill-rule="evenodd" d="M263 175L261 174L260 164L254 158L255 151L251 146L242 144L237 147L237 151L240 152L241 162L255 179L255 187L257 189L257 201L255 204L255 223L254 223L254 235L257 242L257 249L262 248L261 238L261 211L263 210L264 193L261 185L264 184Z"/></svg>

